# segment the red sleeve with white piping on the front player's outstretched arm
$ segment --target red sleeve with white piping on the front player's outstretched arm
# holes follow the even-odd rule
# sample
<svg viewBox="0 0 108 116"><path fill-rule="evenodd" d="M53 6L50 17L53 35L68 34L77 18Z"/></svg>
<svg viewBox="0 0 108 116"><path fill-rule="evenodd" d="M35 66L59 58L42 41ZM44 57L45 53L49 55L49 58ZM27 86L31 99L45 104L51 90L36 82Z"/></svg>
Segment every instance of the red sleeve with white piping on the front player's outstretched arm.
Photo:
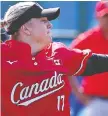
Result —
<svg viewBox="0 0 108 116"><path fill-rule="evenodd" d="M60 57L63 60L63 65L68 70L69 75L78 76L83 73L86 68L86 63L92 55L91 50L69 50L66 48L59 49Z"/></svg>

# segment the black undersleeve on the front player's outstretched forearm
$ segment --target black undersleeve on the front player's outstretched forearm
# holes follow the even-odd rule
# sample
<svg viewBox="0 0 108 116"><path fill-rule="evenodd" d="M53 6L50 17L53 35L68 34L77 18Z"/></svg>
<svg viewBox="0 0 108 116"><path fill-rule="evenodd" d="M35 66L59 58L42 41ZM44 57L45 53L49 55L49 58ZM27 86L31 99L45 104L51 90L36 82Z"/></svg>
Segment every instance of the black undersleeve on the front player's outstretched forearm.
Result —
<svg viewBox="0 0 108 116"><path fill-rule="evenodd" d="M86 68L81 76L108 72L108 55L95 54L88 59Z"/></svg>

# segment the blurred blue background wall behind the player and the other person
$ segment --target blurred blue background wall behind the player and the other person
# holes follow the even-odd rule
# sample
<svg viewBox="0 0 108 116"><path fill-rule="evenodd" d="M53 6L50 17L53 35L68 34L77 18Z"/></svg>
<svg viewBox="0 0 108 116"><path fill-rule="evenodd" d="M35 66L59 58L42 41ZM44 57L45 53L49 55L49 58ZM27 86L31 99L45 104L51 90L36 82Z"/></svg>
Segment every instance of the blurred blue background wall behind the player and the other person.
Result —
<svg viewBox="0 0 108 116"><path fill-rule="evenodd" d="M4 17L7 9L15 4L17 1L2 1L1 2L1 19ZM63 42L69 46L76 36L91 27L97 25L95 19L95 5L96 1L41 1L38 2L44 8L60 7L61 13L58 19L52 21L53 24L53 41ZM6 37L4 30L2 30L3 41ZM80 81L80 78L79 78ZM76 116L76 112L81 105L76 105L76 98L74 95L70 96L70 105L72 116ZM80 107L80 108L79 108Z"/></svg>

